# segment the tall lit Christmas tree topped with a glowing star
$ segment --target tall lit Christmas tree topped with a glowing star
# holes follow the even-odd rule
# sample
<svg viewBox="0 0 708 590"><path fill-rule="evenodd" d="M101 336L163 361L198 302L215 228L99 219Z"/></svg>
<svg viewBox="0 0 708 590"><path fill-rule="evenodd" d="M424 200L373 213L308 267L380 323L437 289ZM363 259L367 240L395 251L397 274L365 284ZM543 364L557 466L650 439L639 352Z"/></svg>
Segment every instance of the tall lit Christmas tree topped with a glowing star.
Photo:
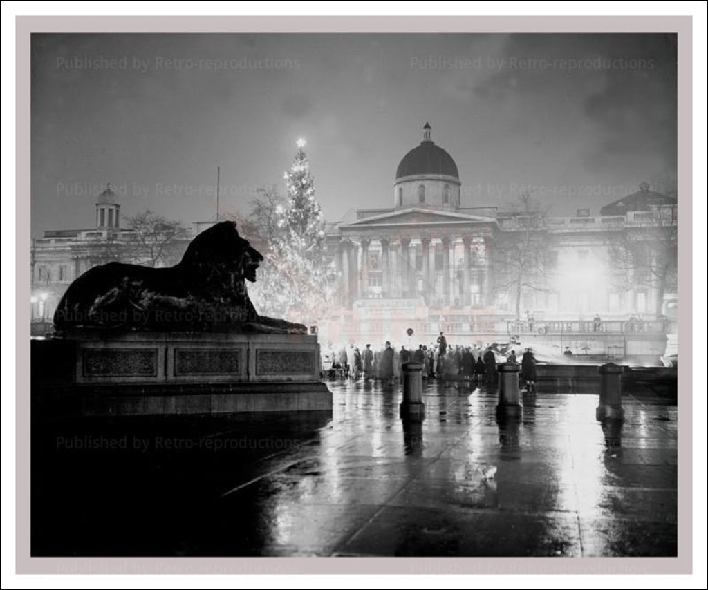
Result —
<svg viewBox="0 0 708 590"><path fill-rule="evenodd" d="M256 203L261 216L264 210L271 212L268 226L275 231L251 299L262 315L316 325L327 316L337 272L326 260L324 218L302 140L285 185L284 203L273 197L272 207Z"/></svg>

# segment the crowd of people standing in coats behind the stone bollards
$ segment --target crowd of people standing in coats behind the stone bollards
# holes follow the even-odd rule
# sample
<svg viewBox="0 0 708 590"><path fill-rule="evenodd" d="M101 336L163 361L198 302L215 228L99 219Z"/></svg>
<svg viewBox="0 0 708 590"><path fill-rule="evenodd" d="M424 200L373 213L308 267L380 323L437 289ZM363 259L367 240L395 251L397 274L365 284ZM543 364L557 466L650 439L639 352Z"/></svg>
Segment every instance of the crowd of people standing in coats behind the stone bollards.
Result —
<svg viewBox="0 0 708 590"><path fill-rule="evenodd" d="M417 347L397 347L389 341L376 349L370 344L360 348L353 343L337 350L329 347L324 354L323 373L329 378L379 379L394 383L401 381L403 365L407 362L422 364L423 378L463 379L476 385L489 385L496 382L500 362L518 363L518 360L514 349L504 354L496 343L485 347L452 345L447 342L444 332L440 332L437 342L418 344ZM535 364L532 350L526 349L521 359L521 372L528 388L532 388L536 380Z"/></svg>

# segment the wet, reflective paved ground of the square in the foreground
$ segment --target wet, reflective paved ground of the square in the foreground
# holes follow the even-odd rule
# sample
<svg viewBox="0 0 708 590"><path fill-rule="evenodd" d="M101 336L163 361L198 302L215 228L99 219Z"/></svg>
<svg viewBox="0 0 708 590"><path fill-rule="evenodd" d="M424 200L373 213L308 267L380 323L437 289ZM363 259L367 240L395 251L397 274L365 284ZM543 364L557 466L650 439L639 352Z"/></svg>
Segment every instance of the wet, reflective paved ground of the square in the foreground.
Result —
<svg viewBox="0 0 708 590"><path fill-rule="evenodd" d="M676 555L672 400L603 425L541 392L498 423L496 389L428 382L421 424L400 386L329 386L331 417L35 427L33 555Z"/></svg>

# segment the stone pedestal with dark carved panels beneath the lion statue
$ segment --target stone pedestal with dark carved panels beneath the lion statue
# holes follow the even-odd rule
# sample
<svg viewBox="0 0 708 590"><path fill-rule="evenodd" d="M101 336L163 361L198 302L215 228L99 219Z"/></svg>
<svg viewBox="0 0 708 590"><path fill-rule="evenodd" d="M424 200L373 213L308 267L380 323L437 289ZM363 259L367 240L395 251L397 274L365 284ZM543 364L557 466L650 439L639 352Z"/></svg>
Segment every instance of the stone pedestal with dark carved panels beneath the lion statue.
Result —
<svg viewBox="0 0 708 590"><path fill-rule="evenodd" d="M84 415L332 409L316 335L75 330L32 342L44 373L33 391L77 400Z"/></svg>

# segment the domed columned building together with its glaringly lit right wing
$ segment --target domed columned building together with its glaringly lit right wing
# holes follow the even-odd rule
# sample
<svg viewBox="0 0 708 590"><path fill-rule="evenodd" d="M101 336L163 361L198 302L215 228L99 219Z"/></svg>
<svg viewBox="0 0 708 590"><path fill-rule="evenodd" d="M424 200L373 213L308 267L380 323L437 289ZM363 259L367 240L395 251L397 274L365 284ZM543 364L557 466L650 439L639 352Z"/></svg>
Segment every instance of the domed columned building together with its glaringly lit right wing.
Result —
<svg viewBox="0 0 708 590"><path fill-rule="evenodd" d="M400 342L407 328L421 341L439 330L464 342L508 337L517 292L501 286L508 269L496 254L520 239L523 220L496 204L464 204L460 186L457 164L426 123L423 141L396 169L392 206L356 209L329 225L327 250L345 277L328 322L331 340ZM579 209L543 219L535 236L542 236L545 283L520 289L520 320L653 317L675 294L675 281L620 286L611 276L612 248L627 233L651 244L659 212L665 219L673 211L675 227L675 204L643 184L600 216Z"/></svg>

